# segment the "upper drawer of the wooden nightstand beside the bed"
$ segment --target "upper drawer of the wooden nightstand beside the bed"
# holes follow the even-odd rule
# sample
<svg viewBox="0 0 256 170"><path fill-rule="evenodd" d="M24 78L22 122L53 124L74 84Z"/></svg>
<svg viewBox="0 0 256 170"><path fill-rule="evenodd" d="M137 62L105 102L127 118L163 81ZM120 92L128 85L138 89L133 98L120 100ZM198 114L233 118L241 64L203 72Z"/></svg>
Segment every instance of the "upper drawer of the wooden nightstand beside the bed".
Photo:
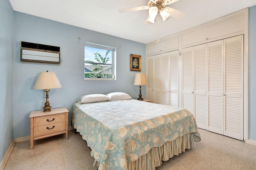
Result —
<svg viewBox="0 0 256 170"><path fill-rule="evenodd" d="M52 123L59 123L65 121L65 114L52 115L47 117L35 117L34 126L49 125Z"/></svg>

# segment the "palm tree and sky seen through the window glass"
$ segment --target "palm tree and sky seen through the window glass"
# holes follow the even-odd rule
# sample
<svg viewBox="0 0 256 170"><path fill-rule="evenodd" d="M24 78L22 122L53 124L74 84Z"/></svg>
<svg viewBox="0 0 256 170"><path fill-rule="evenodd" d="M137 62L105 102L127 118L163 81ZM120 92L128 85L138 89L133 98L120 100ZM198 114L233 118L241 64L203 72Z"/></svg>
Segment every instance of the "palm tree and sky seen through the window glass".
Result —
<svg viewBox="0 0 256 170"><path fill-rule="evenodd" d="M112 51L85 46L84 78L112 78Z"/></svg>

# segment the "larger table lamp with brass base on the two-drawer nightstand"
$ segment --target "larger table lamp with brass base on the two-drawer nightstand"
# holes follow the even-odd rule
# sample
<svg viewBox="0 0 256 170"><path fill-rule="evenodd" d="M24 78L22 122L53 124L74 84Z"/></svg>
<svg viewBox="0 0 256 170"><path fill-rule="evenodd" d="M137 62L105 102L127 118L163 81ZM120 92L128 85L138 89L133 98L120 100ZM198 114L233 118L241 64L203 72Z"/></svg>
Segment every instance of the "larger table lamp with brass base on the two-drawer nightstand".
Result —
<svg viewBox="0 0 256 170"><path fill-rule="evenodd" d="M54 74L54 72L40 72L38 75L38 78L36 79L36 82L34 84L33 89L45 89L46 92L46 103L44 104L43 111L48 112L51 111L50 103L48 102L48 93L51 88L61 88L61 84Z"/></svg>

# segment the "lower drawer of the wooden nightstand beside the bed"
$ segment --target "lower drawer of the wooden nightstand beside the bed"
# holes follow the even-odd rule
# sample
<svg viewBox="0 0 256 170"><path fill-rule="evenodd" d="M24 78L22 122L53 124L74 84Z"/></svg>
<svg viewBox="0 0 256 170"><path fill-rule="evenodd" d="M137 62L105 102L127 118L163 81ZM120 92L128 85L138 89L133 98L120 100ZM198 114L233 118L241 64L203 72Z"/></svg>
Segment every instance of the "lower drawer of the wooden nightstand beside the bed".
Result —
<svg viewBox="0 0 256 170"><path fill-rule="evenodd" d="M34 128L34 137L66 130L66 122L52 123Z"/></svg>

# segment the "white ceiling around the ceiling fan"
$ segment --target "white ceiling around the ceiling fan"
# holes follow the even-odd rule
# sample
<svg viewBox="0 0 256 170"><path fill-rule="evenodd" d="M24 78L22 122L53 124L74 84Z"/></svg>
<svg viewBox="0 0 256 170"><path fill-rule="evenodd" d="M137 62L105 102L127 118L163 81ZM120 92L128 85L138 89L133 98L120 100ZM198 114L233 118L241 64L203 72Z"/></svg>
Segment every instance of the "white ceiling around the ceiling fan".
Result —
<svg viewBox="0 0 256 170"><path fill-rule="evenodd" d="M144 21L148 10L120 14L118 9L147 6L148 0L10 0L15 11L77 27L150 43L157 39L157 23ZM159 38L256 5L256 0L179 0L168 7L185 12L182 18L159 18ZM171 14L172 15L172 14Z"/></svg>

